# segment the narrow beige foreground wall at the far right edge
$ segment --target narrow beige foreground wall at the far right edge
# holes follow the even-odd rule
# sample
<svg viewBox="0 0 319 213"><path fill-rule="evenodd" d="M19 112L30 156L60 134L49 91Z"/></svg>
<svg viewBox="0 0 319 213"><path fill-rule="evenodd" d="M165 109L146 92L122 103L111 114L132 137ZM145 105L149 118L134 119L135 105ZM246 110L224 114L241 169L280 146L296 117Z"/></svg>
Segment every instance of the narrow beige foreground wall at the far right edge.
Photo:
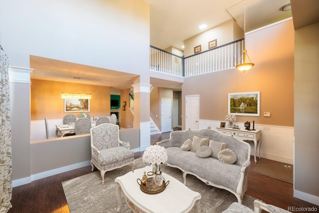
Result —
<svg viewBox="0 0 319 213"><path fill-rule="evenodd" d="M295 31L294 196L319 197L319 23ZM303 199L304 200L304 199Z"/></svg>

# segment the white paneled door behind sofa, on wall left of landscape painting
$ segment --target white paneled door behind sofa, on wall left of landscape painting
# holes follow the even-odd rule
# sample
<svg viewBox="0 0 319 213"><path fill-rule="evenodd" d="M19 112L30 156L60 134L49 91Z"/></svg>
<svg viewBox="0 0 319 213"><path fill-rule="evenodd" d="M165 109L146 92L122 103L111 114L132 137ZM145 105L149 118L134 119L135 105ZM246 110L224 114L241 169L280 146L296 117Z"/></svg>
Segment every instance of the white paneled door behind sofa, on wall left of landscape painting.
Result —
<svg viewBox="0 0 319 213"><path fill-rule="evenodd" d="M199 96L190 95L185 96L185 129L198 129L198 118L199 118Z"/></svg>

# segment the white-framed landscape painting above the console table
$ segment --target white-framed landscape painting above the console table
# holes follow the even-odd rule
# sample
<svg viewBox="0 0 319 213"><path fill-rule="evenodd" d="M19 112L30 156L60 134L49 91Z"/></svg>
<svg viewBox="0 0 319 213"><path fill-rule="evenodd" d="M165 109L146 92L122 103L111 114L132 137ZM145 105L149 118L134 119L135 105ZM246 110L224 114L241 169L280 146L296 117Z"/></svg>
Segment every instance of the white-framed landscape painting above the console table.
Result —
<svg viewBox="0 0 319 213"><path fill-rule="evenodd" d="M260 115L260 92L228 93L228 114Z"/></svg>

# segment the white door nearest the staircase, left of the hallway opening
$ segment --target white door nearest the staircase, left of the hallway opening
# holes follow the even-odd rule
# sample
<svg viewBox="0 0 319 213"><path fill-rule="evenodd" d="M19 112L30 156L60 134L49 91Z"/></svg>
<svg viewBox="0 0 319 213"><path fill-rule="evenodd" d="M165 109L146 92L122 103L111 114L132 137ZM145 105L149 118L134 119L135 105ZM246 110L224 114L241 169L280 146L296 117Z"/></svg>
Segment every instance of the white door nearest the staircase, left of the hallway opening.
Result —
<svg viewBox="0 0 319 213"><path fill-rule="evenodd" d="M171 98L161 99L161 132L171 132Z"/></svg>

